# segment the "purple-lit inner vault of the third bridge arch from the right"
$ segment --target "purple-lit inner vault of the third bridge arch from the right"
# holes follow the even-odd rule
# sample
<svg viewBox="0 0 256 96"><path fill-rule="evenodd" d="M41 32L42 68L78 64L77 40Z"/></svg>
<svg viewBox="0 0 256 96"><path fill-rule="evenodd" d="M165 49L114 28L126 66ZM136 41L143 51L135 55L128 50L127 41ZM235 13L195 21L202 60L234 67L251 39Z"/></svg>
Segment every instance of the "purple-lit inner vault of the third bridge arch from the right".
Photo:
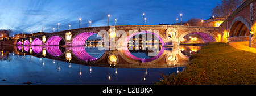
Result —
<svg viewBox="0 0 256 96"><path fill-rule="evenodd" d="M92 36L93 32L83 32L78 34L72 41L72 46L84 46L88 37Z"/></svg>

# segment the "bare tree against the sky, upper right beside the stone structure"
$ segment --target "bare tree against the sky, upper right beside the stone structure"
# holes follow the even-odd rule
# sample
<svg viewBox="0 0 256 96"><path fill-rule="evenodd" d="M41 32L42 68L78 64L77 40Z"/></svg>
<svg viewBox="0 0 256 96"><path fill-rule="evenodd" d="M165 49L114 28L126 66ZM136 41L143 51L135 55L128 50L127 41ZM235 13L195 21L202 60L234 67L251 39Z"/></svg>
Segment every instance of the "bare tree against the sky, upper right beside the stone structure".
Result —
<svg viewBox="0 0 256 96"><path fill-rule="evenodd" d="M222 0L221 5L218 4L213 8L212 15L226 19L245 1L246 0Z"/></svg>

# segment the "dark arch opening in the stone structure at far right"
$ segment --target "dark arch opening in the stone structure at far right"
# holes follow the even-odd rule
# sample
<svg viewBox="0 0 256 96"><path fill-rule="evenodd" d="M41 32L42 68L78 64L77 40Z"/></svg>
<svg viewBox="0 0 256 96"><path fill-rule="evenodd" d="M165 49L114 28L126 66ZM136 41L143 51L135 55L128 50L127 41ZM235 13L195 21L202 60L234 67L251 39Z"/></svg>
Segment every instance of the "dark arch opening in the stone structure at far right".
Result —
<svg viewBox="0 0 256 96"><path fill-rule="evenodd" d="M229 36L230 37L239 37L239 36L249 36L251 30L251 25L242 16L236 17L232 24L229 27Z"/></svg>

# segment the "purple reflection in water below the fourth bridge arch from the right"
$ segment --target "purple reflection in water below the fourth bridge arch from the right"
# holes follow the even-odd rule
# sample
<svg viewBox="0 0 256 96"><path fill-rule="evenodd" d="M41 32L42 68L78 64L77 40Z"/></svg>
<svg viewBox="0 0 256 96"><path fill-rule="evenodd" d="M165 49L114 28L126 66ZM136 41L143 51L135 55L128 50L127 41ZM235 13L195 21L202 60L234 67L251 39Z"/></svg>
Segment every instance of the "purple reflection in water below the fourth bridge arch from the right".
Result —
<svg viewBox="0 0 256 96"><path fill-rule="evenodd" d="M46 51L48 54L52 55L52 56L60 56L63 53L60 51L60 47L59 46L47 46L46 47Z"/></svg>

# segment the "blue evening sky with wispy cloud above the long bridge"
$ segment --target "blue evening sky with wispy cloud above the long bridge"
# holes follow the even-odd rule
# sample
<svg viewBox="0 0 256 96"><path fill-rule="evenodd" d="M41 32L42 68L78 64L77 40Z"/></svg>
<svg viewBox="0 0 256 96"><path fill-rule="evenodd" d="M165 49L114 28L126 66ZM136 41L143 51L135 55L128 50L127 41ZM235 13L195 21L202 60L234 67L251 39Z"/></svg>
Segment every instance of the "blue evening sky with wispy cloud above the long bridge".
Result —
<svg viewBox="0 0 256 96"><path fill-rule="evenodd" d="M118 25L141 25L145 12L147 25L172 24L182 13L183 21L196 17L209 19L211 10L221 0L0 0L0 29L11 29L13 34L44 32L105 26L110 14L110 25L117 18Z"/></svg>

